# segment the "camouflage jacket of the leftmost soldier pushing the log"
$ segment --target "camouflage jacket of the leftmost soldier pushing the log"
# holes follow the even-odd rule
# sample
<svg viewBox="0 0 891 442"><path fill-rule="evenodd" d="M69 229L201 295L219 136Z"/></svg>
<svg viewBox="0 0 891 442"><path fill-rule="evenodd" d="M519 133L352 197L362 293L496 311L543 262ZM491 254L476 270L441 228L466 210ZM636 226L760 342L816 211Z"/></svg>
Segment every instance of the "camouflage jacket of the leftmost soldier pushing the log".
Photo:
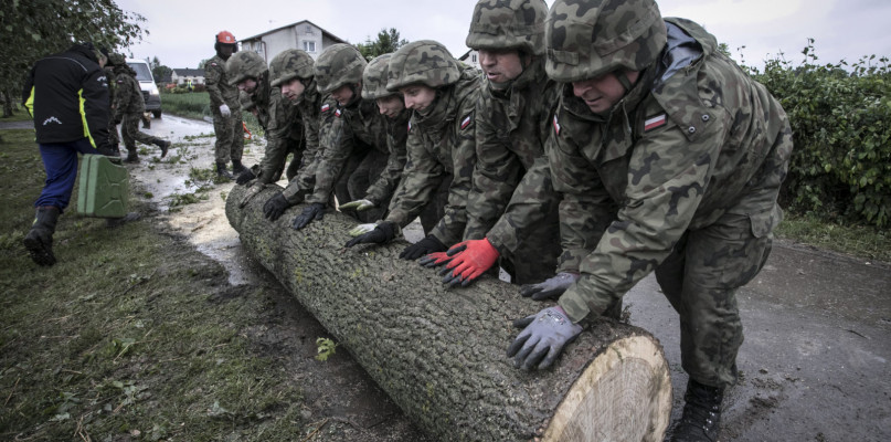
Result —
<svg viewBox="0 0 891 442"><path fill-rule="evenodd" d="M259 162L257 180L268 185L285 165L288 144L299 143L303 122L297 107L282 95L282 90L269 85L268 71L257 78L257 90L251 99L257 108L257 122L266 131L266 149Z"/></svg>

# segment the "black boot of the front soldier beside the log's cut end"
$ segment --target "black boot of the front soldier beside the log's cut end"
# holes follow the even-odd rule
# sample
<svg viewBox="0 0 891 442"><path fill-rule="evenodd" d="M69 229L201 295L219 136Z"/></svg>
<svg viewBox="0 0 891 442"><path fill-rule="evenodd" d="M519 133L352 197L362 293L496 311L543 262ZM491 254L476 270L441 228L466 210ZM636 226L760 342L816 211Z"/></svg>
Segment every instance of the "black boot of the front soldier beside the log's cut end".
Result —
<svg viewBox="0 0 891 442"><path fill-rule="evenodd" d="M724 389L687 381L683 414L668 431L670 442L715 442L721 429L721 401Z"/></svg>

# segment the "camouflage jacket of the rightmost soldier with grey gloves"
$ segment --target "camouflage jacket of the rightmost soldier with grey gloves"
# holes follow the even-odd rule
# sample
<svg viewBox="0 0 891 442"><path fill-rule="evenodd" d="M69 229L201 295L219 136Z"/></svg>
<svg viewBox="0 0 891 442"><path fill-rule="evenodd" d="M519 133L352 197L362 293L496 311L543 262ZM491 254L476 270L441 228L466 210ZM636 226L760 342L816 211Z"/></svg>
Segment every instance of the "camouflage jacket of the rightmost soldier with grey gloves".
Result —
<svg viewBox="0 0 891 442"><path fill-rule="evenodd" d="M560 305L576 323L655 270L687 230L736 213L764 236L782 218L776 194L792 151L783 108L700 25L666 24L661 62L609 115L592 114L565 85L553 118L547 151L563 194L559 271L582 275ZM680 66L671 64L678 36L699 51Z"/></svg>

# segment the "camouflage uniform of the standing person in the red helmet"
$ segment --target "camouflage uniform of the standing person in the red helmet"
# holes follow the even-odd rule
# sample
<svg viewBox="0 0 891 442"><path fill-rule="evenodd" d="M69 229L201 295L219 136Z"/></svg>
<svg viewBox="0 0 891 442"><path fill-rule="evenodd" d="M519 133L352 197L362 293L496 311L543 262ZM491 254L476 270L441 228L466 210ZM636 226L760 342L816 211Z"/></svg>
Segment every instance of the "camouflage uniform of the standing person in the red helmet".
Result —
<svg viewBox="0 0 891 442"><path fill-rule="evenodd" d="M238 88L229 83L225 66L226 61L220 54L204 62L204 85L211 98L213 133L216 135L213 151L218 164L227 164L230 160L241 161L244 154ZM224 104L232 112L229 117L220 113L220 106Z"/></svg>

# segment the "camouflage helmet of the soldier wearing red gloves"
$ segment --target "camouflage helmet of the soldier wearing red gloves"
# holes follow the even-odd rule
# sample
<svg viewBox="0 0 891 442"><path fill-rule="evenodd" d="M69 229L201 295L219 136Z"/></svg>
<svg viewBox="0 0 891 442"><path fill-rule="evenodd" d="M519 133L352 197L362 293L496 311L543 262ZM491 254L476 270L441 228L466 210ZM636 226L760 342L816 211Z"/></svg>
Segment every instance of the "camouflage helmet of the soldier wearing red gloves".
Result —
<svg viewBox="0 0 891 442"><path fill-rule="evenodd" d="M518 49L544 53L544 0L479 0L474 8L467 46L476 50Z"/></svg>

